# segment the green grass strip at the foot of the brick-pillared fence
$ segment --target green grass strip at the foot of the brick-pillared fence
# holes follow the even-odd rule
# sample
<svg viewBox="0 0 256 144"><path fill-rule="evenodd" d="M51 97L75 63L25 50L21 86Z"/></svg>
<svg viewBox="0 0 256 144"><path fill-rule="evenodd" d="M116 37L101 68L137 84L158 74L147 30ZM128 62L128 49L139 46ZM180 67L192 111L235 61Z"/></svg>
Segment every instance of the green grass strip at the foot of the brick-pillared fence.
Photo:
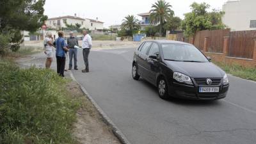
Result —
<svg viewBox="0 0 256 144"><path fill-rule="evenodd" d="M254 67L242 67L237 64L227 64L213 61L216 65L221 67L228 74L232 74L233 76L241 77L243 79L248 79L252 81L256 81L256 68Z"/></svg>

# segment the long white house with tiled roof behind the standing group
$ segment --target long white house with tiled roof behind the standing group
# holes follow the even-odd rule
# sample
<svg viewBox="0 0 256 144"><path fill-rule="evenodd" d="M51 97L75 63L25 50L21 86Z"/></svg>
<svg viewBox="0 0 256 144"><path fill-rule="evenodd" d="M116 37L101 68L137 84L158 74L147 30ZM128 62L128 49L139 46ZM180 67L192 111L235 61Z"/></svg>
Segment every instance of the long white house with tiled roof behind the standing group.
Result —
<svg viewBox="0 0 256 144"><path fill-rule="evenodd" d="M77 17L76 14L74 16L64 16L64 17L54 17L51 19L47 19L45 24L47 28L53 28L53 29L58 29L58 28L67 28L67 24L81 24L81 28L86 28L91 31L102 31L103 30L103 24L104 22L100 22L98 18L96 20L93 19L86 19L86 18L81 18Z"/></svg>

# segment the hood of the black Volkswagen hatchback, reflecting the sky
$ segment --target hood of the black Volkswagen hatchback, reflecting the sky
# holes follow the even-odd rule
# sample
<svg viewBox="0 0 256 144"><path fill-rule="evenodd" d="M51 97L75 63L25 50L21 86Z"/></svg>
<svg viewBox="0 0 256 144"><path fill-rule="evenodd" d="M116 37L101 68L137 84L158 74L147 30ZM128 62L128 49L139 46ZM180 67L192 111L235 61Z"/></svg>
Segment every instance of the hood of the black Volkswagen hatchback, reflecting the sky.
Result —
<svg viewBox="0 0 256 144"><path fill-rule="evenodd" d="M166 61L173 72L181 72L190 77L223 77L225 72L211 62L195 63L182 61Z"/></svg>

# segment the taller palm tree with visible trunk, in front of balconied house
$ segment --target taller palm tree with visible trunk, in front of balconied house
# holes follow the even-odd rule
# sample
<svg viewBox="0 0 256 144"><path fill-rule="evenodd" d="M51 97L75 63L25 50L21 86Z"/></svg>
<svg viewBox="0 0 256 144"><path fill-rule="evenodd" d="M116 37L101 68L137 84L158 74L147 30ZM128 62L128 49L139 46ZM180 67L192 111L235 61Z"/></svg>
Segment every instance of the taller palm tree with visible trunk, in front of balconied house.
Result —
<svg viewBox="0 0 256 144"><path fill-rule="evenodd" d="M159 24L159 35L162 36L164 22L168 17L172 17L174 12L171 10L172 5L165 0L158 0L152 5L150 10L150 21L154 24Z"/></svg>

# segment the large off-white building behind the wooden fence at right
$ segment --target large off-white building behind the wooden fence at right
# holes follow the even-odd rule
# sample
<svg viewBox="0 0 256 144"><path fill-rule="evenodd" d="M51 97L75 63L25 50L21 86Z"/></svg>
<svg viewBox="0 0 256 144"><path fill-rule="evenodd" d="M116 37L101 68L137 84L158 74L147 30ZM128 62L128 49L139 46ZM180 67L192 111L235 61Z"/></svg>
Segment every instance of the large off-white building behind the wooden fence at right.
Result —
<svg viewBox="0 0 256 144"><path fill-rule="evenodd" d="M232 31L256 30L256 0L230 0L223 5L223 23Z"/></svg>

